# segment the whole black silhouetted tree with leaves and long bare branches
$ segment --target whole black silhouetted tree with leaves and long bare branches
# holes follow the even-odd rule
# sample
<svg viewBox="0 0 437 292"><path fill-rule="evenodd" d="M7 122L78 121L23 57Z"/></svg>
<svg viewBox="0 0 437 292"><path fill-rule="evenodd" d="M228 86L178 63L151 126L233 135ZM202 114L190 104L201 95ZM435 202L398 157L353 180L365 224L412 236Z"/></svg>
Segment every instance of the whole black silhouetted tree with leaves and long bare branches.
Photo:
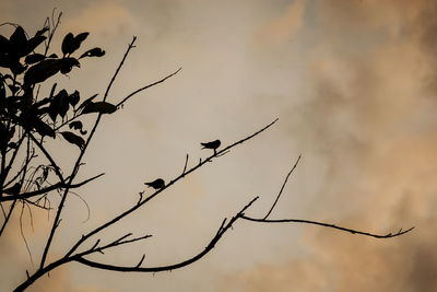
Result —
<svg viewBox="0 0 437 292"><path fill-rule="evenodd" d="M58 229L62 226L62 211L66 209L64 202L67 198L73 189L81 188L85 184L104 175L98 174L85 180L76 182L84 154L101 125L102 116L116 113L135 94L166 81L180 71L179 68L174 73L154 83L132 91L117 104L107 102L107 96L114 81L117 79L129 52L134 48L137 38L133 37L101 98L98 98L97 94L83 98L79 90L67 91L66 89L59 89L57 83L52 83L54 77L66 75L71 70L78 70L80 62L87 61L93 57L101 58L105 55L105 50L99 47L85 51L82 50L82 44L88 36L87 32L78 35L73 35L72 33L67 34L61 45L62 55L50 54L51 39L59 25L60 16L61 14L56 20L47 19L44 27L37 31L34 36L28 36L23 27L11 23L8 23L8 25L14 26L12 35L10 37L0 35L0 67L3 68L0 71L0 205L3 215L0 222L0 236L8 226L11 214L17 206L26 206L29 210L39 208L46 210L54 209L56 211L37 268L26 271L27 277L15 291L25 290L38 278L61 265L72 261L97 269L114 271L158 272L178 269L191 265L206 255L237 220L248 220L259 223L309 223L377 238L393 237L412 230L400 230L394 234L377 235L309 220L270 219L269 217L276 206L290 175L299 162L299 156L286 175L281 190L267 214L260 215L260 218L252 218L246 214L246 211L258 199L258 197L255 197L234 217L224 219L205 248L191 258L160 267L144 266L144 255L130 266L108 265L88 258L93 254L103 254L103 252L115 247L147 240L151 235L134 236L132 233L126 233L116 240L109 241L98 237L107 227L135 212L174 184L179 183L206 163L213 162L213 160L225 155L235 147L267 130L276 122L277 119L275 119L253 133L232 144L222 145L222 148L220 148L220 140L202 143L204 148L213 150L213 153L205 159L200 159L193 166L189 166L189 155L187 154L182 172L178 176L167 183L161 178L146 183L154 189L152 195L145 196L144 191L141 191L137 203L123 212L114 215L114 218L103 224L94 226L90 232L84 233L75 242L71 243L71 246L67 249L68 252L60 258L47 261L47 255L50 253L54 236L57 234ZM48 95L40 93L42 86L51 87ZM83 124L85 116L94 118L94 122L86 127L90 129L88 131L85 130ZM64 143L71 143L79 148L79 154L75 157L71 172L60 167L59 165L61 164L54 159L52 153L47 148L47 144L58 138L63 139ZM38 155L43 156L45 162L42 163L40 159L35 160ZM61 195L61 199L57 206L51 206L52 202L49 197L54 191L58 191Z"/></svg>

